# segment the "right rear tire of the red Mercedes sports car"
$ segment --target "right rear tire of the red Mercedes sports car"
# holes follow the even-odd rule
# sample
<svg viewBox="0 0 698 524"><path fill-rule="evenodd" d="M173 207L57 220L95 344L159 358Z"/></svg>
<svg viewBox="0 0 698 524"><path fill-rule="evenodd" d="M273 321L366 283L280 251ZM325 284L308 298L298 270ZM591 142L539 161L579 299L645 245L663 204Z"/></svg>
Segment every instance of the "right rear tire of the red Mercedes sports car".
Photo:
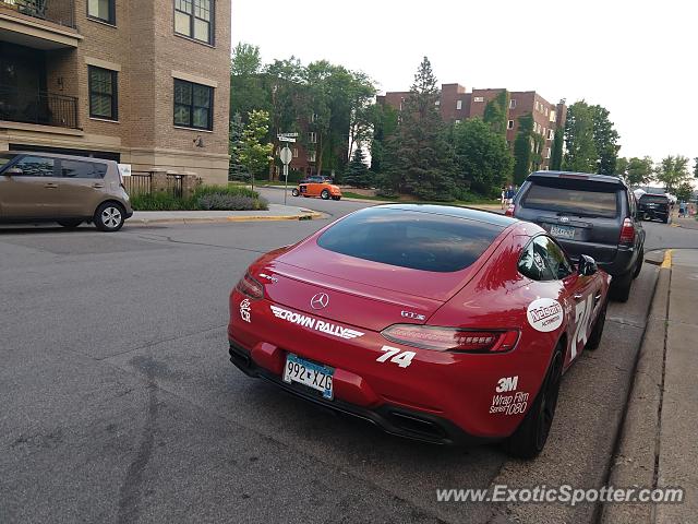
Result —
<svg viewBox="0 0 698 524"><path fill-rule="evenodd" d="M504 442L506 452L517 458L533 458L543 451L555 416L559 381L563 374L563 352L558 345L533 405L514 434Z"/></svg>

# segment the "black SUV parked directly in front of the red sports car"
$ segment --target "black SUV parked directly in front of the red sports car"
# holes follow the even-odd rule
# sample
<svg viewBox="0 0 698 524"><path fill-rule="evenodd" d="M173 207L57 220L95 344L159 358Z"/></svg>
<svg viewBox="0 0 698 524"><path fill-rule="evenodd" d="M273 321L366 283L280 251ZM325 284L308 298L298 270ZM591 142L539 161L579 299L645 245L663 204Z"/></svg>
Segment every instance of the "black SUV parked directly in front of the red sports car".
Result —
<svg viewBox="0 0 698 524"><path fill-rule="evenodd" d="M645 230L635 195L617 177L537 171L528 176L507 215L544 228L577 261L592 257L613 276L612 297L626 301L645 257Z"/></svg>

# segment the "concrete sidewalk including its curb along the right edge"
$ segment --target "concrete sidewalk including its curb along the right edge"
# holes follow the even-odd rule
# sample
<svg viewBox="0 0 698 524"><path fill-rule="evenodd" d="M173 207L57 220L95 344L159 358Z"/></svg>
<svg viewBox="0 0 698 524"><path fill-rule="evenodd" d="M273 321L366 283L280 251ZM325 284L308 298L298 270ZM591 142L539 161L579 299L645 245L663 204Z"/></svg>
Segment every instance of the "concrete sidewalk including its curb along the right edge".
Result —
<svg viewBox="0 0 698 524"><path fill-rule="evenodd" d="M698 249L669 250L640 348L609 485L682 487L681 504L606 504L603 523L698 515Z"/></svg>

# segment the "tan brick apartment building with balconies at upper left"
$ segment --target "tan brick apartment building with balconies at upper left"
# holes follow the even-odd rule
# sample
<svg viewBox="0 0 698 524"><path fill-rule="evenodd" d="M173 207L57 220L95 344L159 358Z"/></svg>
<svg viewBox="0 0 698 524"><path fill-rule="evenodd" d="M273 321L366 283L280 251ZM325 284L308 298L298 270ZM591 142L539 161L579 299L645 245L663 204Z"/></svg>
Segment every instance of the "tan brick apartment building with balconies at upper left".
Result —
<svg viewBox="0 0 698 524"><path fill-rule="evenodd" d="M230 0L0 0L0 151L228 171Z"/></svg>

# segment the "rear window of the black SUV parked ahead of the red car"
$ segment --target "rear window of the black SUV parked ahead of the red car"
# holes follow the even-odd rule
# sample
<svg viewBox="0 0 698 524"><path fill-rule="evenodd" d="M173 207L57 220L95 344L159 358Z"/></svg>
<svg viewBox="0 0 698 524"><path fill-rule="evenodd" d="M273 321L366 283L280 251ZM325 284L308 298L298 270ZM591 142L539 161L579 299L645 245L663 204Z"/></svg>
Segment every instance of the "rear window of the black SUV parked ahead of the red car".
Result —
<svg viewBox="0 0 698 524"><path fill-rule="evenodd" d="M535 181L521 199L521 205L578 216L614 218L618 214L617 186L575 180Z"/></svg>

